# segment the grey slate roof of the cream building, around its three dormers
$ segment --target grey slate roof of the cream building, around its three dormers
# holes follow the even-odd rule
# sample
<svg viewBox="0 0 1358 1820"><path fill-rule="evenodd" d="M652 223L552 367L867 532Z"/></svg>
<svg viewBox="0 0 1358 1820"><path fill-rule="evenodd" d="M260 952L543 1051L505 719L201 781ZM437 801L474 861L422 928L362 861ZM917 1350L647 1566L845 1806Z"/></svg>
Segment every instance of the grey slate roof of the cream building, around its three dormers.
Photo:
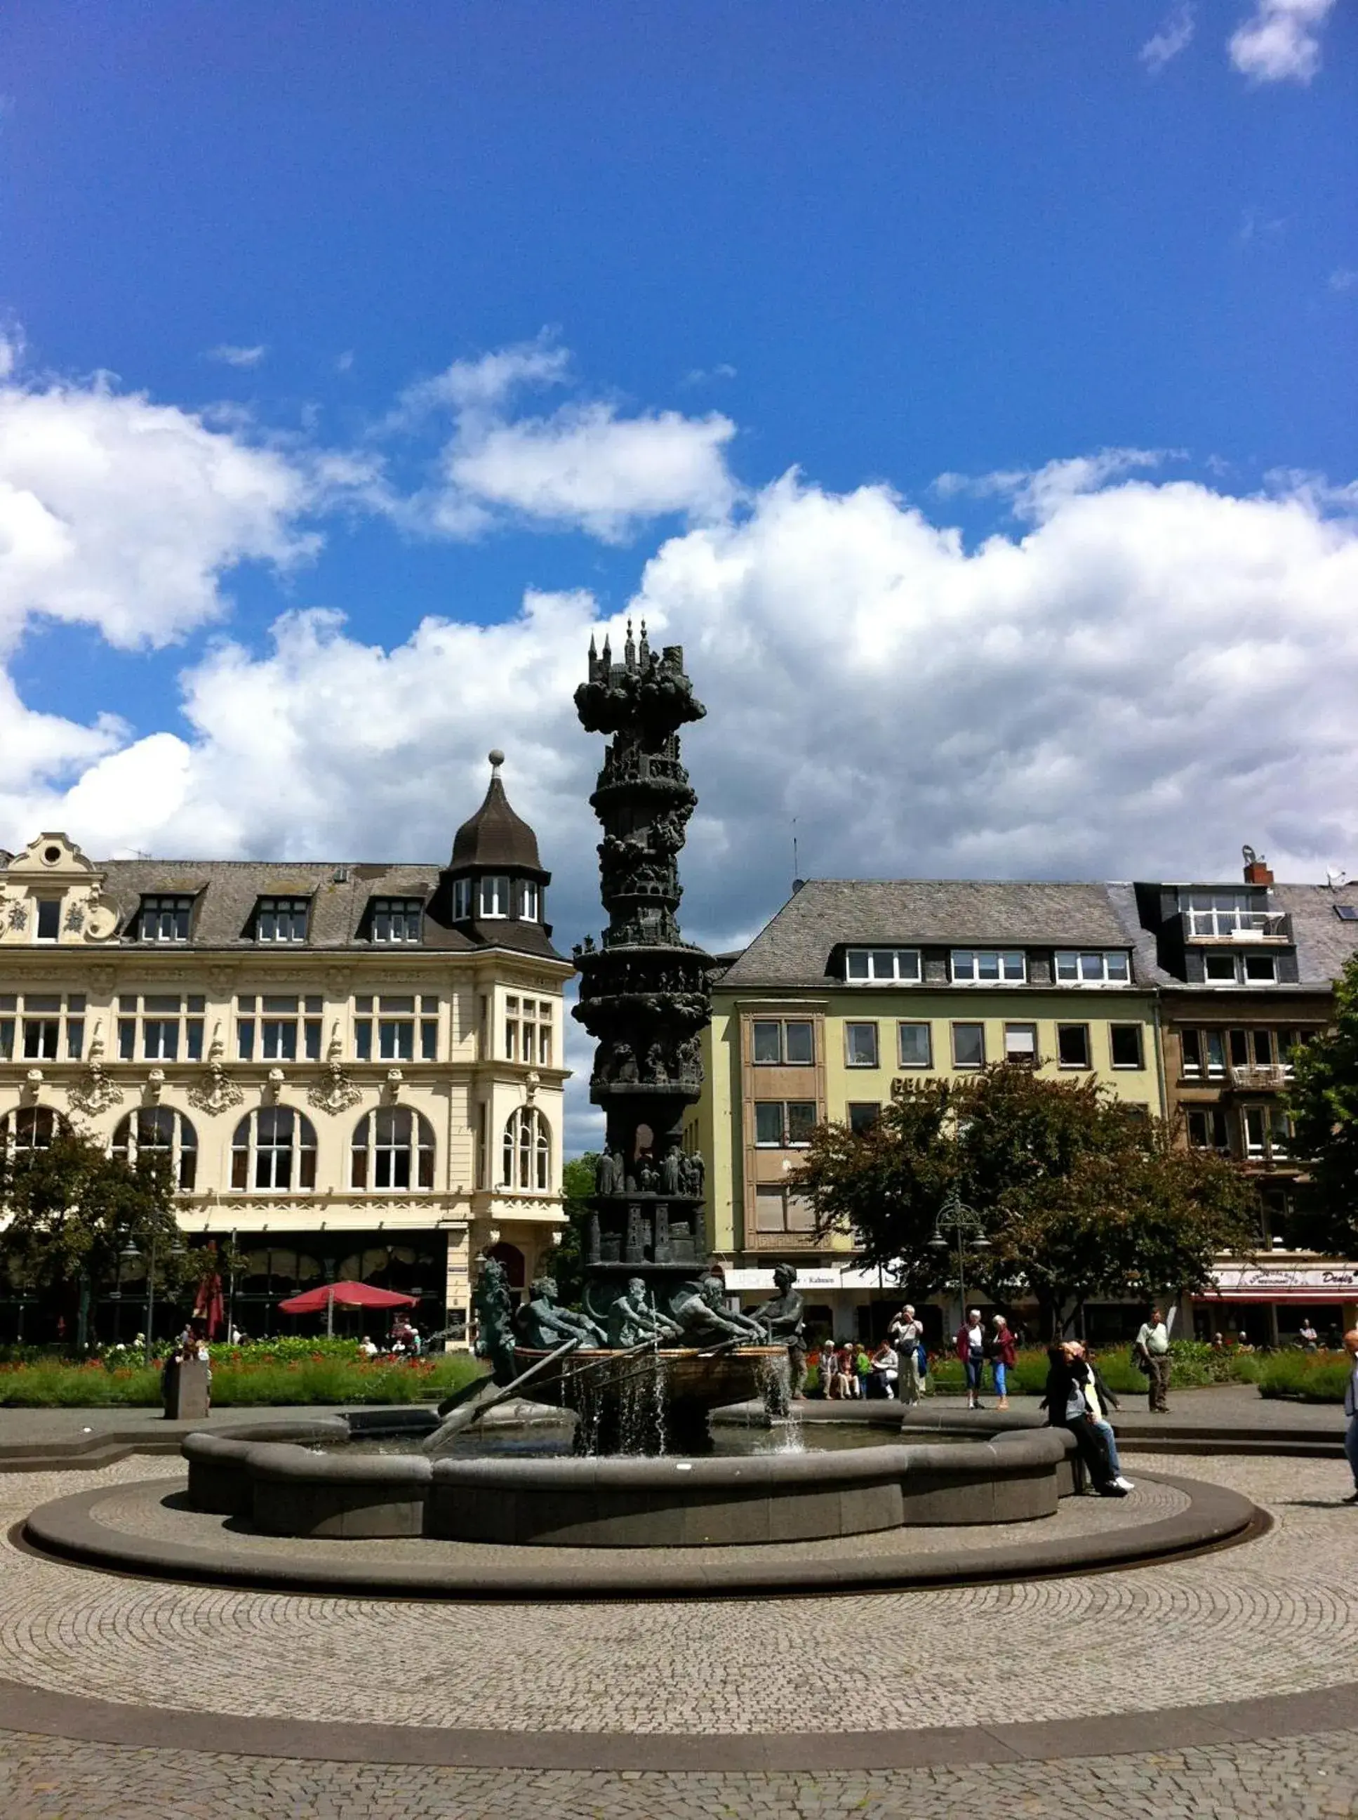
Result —
<svg viewBox="0 0 1358 1820"><path fill-rule="evenodd" d="M307 897L307 939L296 948L353 948L371 952L365 937L365 912L371 897L418 897L425 903L440 885L438 864L345 864L340 861L255 861L255 859L105 859L104 899L118 910L118 930L135 939L136 912L144 895L193 897L189 948L249 948L275 952L253 939L253 912L260 897ZM447 894L440 894L445 897ZM436 906L438 908L438 906ZM520 954L562 959L538 923L513 919L473 925L480 939L451 928L436 914L425 914L420 948L473 954L496 946ZM160 948L158 943L138 943ZM165 943L164 948L180 946ZM284 946L284 945L280 945ZM291 945L287 945L291 946ZM416 945L382 946L389 952L418 952Z"/></svg>

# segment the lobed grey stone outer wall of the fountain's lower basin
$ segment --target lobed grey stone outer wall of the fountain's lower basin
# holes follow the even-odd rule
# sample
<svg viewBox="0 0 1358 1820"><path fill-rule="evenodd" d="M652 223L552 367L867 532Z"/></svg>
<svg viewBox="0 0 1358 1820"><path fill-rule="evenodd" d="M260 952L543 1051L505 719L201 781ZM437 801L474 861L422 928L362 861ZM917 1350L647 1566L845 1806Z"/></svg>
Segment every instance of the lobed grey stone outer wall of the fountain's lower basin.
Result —
<svg viewBox="0 0 1358 1820"><path fill-rule="evenodd" d="M1073 1441L1060 1429L734 1460L311 1451L351 1434L345 1418L189 1434L189 1502L269 1536L674 1549L1014 1523L1053 1516L1073 1489Z"/></svg>

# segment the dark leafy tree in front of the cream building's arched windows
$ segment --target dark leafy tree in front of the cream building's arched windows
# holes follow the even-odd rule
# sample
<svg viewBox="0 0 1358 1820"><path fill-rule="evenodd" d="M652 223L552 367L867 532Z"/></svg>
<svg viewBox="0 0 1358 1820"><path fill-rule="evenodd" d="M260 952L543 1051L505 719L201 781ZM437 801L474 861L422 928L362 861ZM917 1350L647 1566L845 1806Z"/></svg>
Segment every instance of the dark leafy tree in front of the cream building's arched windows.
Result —
<svg viewBox="0 0 1358 1820"><path fill-rule="evenodd" d="M0 1205L9 1214L0 1245L11 1276L62 1298L78 1347L91 1296L118 1281L125 1247L136 1247L147 1269L155 1252L158 1294L227 1267L215 1250L182 1245L164 1159L131 1165L64 1125L44 1148L0 1154Z"/></svg>

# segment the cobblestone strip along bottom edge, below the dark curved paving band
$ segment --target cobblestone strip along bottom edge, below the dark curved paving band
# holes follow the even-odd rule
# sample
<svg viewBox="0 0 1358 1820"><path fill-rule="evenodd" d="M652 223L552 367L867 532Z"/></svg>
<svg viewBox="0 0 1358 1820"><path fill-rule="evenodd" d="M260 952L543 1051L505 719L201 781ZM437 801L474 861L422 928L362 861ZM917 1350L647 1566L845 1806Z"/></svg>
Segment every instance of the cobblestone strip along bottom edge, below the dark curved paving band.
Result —
<svg viewBox="0 0 1358 1820"><path fill-rule="evenodd" d="M1331 1820L1358 1733L1156 1754L836 1774L596 1774L295 1764L0 1733L7 1820Z"/></svg>

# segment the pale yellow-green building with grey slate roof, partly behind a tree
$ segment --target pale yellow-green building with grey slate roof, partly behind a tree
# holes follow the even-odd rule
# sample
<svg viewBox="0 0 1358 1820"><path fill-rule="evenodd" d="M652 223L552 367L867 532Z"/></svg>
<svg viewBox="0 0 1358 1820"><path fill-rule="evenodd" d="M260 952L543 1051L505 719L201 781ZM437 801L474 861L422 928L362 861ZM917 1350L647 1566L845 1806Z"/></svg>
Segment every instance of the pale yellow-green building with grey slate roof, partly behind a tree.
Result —
<svg viewBox="0 0 1358 1820"><path fill-rule="evenodd" d="M727 1285L758 1299L774 1259L838 1336L876 1332L900 1290L847 1234L816 1238L787 1188L824 1119L871 1123L896 1077L993 1061L1103 1081L1163 1112L1156 992L1114 888L949 879L804 885L713 992L694 1139ZM933 1318L933 1314L931 1314Z"/></svg>

